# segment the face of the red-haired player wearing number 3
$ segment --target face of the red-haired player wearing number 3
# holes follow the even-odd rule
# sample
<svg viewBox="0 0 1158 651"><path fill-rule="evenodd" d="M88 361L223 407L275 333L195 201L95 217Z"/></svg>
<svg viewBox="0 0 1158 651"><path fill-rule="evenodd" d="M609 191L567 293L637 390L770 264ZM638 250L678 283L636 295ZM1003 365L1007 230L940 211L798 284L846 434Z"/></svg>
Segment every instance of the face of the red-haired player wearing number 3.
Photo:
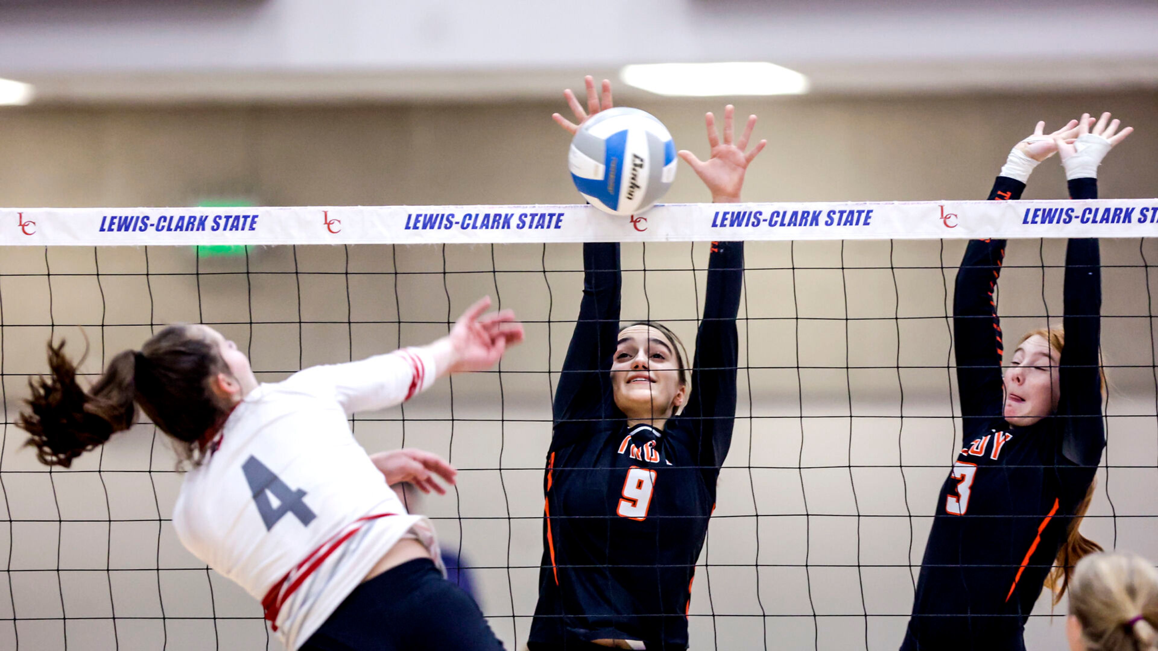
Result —
<svg viewBox="0 0 1158 651"><path fill-rule="evenodd" d="M1058 354L1049 342L1034 335L1013 351L1005 371L1005 419L1012 425L1027 426L1057 409L1061 385Z"/></svg>

